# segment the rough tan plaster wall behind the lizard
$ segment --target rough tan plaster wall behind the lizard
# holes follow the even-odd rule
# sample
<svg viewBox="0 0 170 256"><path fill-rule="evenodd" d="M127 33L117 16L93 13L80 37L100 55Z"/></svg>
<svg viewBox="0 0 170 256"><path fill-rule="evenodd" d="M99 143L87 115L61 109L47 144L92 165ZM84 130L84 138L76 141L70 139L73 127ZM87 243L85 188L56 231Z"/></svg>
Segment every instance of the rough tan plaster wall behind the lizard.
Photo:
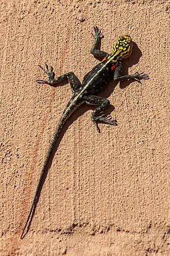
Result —
<svg viewBox="0 0 170 256"><path fill-rule="evenodd" d="M1 255L170 255L169 1L1 1ZM63 108L65 82L39 85L37 67L83 76L93 26L111 52L120 34L134 51L101 96L118 126L91 122L81 106L61 132L28 233L20 234ZM113 108L115 107L115 110Z"/></svg>

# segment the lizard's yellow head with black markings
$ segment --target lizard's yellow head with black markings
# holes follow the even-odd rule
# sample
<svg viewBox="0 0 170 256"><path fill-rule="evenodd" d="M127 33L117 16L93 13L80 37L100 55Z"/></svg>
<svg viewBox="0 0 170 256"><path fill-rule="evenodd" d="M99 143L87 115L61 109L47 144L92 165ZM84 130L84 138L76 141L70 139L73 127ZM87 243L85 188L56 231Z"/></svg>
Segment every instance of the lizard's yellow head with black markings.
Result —
<svg viewBox="0 0 170 256"><path fill-rule="evenodd" d="M122 60L130 57L133 43L129 35L120 36L113 46L113 53L116 60Z"/></svg>

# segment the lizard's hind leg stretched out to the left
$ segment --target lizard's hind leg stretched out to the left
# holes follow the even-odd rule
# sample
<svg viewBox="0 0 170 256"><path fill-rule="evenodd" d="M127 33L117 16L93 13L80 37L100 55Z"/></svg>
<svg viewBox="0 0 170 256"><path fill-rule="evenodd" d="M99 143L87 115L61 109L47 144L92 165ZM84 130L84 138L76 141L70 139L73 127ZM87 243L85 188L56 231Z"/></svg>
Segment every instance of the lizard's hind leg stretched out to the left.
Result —
<svg viewBox="0 0 170 256"><path fill-rule="evenodd" d="M48 75L48 80L36 80L39 83L54 85L54 84L58 84L59 82L62 82L65 79L68 79L73 93L76 92L76 90L78 90L81 86L81 83L78 77L76 77L73 72L66 73L65 75L59 76L55 79L53 67L48 68L48 65L46 64L45 64L46 69L41 67L41 65L39 65L39 67L46 73L46 75Z"/></svg>

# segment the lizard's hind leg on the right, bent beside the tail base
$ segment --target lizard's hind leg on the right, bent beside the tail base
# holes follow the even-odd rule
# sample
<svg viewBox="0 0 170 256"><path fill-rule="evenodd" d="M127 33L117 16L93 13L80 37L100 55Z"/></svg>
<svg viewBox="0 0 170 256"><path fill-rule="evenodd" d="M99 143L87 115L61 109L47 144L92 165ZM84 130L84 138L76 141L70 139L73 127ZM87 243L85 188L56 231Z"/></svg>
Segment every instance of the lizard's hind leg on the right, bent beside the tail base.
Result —
<svg viewBox="0 0 170 256"><path fill-rule="evenodd" d="M91 119L95 123L97 131L100 133L99 126L97 125L97 121L107 123L108 125L117 125L117 121L112 119L111 115L99 115L106 109L110 102L106 98L95 96L95 95L88 95L84 96L83 100L90 105L98 105L98 107L94 110L91 114Z"/></svg>

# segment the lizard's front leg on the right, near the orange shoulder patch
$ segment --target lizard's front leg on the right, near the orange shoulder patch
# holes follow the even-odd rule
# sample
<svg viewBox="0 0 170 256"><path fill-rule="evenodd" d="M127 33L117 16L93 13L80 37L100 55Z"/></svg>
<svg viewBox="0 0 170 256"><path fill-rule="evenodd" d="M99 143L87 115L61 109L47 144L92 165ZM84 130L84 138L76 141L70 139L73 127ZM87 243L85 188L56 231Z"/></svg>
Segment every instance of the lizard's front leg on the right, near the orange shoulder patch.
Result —
<svg viewBox="0 0 170 256"><path fill-rule="evenodd" d="M122 73L123 73L123 65L121 61L118 61L118 65L114 71L114 81L125 81L125 80L134 79L141 83L139 79L149 79L148 75L146 75L143 72L142 73L135 72L132 75L125 75L125 76L122 76Z"/></svg>

